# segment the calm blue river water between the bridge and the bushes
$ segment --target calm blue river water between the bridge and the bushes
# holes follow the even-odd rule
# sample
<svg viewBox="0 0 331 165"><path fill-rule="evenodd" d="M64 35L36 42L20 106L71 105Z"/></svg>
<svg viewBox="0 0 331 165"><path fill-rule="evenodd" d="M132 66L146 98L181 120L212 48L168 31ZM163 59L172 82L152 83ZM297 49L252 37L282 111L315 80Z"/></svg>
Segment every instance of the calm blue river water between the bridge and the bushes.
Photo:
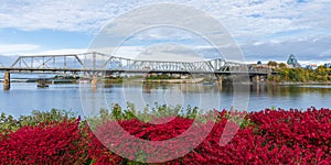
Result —
<svg viewBox="0 0 331 165"><path fill-rule="evenodd" d="M92 107L109 108L111 103L126 107L128 101L135 103L137 109L142 109L146 105L152 107L154 102L183 107L190 105L202 109L229 109L234 106L234 96L243 97L244 105L245 100L249 100L247 111L271 107L303 110L311 106L331 108L331 86L250 85L247 89L249 94L234 92L234 88L228 85L221 88L196 84L100 84L93 88L89 84L70 84L38 88L33 82L12 82L10 90L0 90L0 112L18 117L29 114L32 110L55 108L89 116Z"/></svg>

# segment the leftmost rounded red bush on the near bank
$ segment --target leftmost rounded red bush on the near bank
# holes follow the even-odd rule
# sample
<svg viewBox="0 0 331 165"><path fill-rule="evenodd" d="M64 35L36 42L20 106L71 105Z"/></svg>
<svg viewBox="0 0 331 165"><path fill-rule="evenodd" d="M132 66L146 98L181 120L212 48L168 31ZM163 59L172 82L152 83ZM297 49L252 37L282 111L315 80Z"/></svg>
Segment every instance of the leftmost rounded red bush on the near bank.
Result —
<svg viewBox="0 0 331 165"><path fill-rule="evenodd" d="M23 127L0 140L1 164L82 164L87 158L79 118Z"/></svg>

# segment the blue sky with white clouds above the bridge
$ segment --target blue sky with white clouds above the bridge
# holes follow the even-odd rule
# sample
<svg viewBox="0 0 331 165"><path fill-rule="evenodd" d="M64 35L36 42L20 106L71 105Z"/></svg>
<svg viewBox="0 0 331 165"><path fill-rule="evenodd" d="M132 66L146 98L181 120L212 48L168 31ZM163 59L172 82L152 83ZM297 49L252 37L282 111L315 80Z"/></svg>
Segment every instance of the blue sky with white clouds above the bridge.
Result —
<svg viewBox="0 0 331 165"><path fill-rule="evenodd" d="M163 2L185 4L216 19L247 62L286 62L295 54L303 64L331 63L330 0L0 0L0 55L85 53L116 18ZM117 55L160 53L151 51L167 51L160 44L175 43L212 58L212 48L192 36L164 28L143 31Z"/></svg>

